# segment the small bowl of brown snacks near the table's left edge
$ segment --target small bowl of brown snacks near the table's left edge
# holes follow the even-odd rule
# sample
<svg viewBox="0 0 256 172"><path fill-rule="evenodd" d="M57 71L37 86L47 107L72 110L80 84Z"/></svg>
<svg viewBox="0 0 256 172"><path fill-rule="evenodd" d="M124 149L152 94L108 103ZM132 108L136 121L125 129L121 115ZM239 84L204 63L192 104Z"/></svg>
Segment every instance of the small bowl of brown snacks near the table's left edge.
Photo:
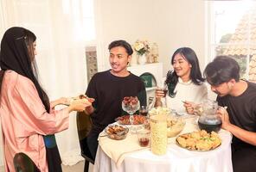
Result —
<svg viewBox="0 0 256 172"><path fill-rule="evenodd" d="M108 125L105 128L105 132L108 138L112 138L115 140L125 139L127 133L129 132L129 128L127 126L119 126L119 125Z"/></svg>

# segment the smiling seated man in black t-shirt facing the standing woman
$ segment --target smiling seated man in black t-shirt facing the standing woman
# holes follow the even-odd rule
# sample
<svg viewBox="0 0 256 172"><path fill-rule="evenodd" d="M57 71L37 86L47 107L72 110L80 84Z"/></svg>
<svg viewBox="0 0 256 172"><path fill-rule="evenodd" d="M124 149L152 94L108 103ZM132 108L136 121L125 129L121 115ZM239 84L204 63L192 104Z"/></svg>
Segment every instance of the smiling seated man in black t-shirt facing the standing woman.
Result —
<svg viewBox="0 0 256 172"><path fill-rule="evenodd" d="M142 80L127 71L133 52L125 40L115 40L108 46L111 70L96 73L88 84L86 95L95 99L93 106L87 107L93 127L87 136L87 144L95 159L99 132L124 114L122 101L125 96L138 96L140 105L146 105L146 92ZM125 113L127 114L127 113Z"/></svg>

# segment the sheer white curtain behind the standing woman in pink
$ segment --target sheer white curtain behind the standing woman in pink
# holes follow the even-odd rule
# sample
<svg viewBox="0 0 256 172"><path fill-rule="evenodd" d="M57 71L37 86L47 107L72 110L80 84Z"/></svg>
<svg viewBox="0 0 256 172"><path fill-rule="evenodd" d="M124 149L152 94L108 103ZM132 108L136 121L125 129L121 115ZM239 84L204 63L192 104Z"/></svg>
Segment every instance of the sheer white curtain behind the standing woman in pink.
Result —
<svg viewBox="0 0 256 172"><path fill-rule="evenodd" d="M0 0L1 38L13 26L29 28L37 36L40 81L51 100L86 91L86 30L82 24L81 0ZM82 159L75 113L70 114L68 130L56 138L64 163Z"/></svg>

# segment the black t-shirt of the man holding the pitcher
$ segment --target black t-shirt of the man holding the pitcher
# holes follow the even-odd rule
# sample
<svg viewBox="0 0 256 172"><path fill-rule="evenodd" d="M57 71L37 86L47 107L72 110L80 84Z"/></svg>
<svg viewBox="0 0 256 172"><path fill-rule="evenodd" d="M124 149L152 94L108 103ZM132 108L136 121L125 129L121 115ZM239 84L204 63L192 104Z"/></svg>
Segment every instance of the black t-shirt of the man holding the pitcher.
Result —
<svg viewBox="0 0 256 172"><path fill-rule="evenodd" d="M235 126L250 132L256 132L256 83L248 84L244 93L239 96L218 96L217 101L221 106L227 106L229 120ZM246 144L239 138L233 138L233 144Z"/></svg>

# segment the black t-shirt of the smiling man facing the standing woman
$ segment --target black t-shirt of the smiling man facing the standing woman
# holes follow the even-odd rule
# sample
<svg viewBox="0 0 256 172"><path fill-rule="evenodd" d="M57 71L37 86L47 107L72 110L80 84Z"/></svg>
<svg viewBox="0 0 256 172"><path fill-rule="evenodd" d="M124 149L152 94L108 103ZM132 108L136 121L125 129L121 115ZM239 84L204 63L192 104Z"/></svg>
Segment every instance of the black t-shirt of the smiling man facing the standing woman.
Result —
<svg viewBox="0 0 256 172"><path fill-rule="evenodd" d="M110 71L96 73L88 84L86 95L95 99L95 111L91 117L93 129L97 132L113 123L118 116L127 114L122 110L125 96L138 96L140 105L146 105L144 83L132 73L127 77L116 77Z"/></svg>

